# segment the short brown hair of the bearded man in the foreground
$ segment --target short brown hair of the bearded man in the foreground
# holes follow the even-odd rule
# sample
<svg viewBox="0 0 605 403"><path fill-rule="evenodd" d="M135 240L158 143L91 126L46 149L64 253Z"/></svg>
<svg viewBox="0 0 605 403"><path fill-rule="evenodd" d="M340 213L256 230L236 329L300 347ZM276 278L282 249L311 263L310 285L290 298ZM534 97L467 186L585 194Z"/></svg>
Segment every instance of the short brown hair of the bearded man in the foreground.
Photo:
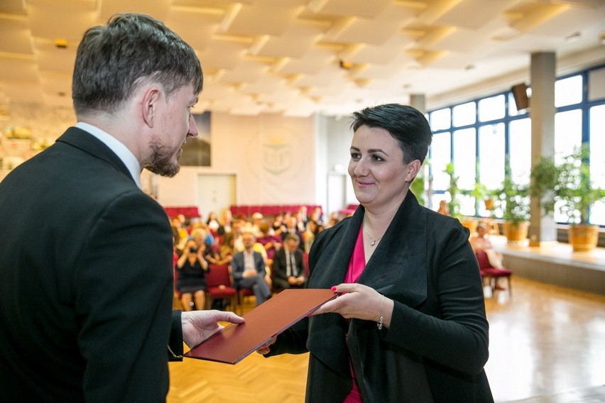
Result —
<svg viewBox="0 0 605 403"><path fill-rule="evenodd" d="M195 50L161 21L144 14L116 14L89 28L77 48L72 79L76 114L113 113L136 88L150 81L170 96L187 84L202 90Z"/></svg>

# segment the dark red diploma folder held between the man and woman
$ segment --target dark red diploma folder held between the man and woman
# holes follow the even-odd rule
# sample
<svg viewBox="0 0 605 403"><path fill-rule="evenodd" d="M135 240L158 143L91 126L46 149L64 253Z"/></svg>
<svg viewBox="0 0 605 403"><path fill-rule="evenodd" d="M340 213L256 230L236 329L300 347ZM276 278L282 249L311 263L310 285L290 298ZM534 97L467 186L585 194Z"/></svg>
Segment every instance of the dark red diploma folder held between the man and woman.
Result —
<svg viewBox="0 0 605 403"><path fill-rule="evenodd" d="M184 356L220 363L239 363L272 337L312 314L337 295L331 289L284 289L245 314L243 324L229 324Z"/></svg>

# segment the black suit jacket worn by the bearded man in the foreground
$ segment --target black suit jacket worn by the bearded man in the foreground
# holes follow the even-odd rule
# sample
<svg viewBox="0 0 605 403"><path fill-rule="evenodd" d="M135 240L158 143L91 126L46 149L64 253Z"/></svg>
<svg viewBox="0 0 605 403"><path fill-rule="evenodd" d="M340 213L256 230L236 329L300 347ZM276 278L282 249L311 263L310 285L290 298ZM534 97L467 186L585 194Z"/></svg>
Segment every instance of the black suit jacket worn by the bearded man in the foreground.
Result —
<svg viewBox="0 0 605 403"><path fill-rule="evenodd" d="M0 222L2 399L163 402L172 231L121 160L67 129L0 182Z"/></svg>

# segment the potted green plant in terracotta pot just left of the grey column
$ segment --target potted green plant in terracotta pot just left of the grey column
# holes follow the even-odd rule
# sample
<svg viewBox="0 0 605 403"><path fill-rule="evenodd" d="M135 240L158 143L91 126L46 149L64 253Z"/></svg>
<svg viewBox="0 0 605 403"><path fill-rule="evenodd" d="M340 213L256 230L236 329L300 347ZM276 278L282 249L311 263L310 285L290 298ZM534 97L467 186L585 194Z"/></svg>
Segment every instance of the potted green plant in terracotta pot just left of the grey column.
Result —
<svg viewBox="0 0 605 403"><path fill-rule="evenodd" d="M530 217L528 187L513 182L508 164L502 189L498 192L498 206L502 211L502 228L508 243L525 241Z"/></svg>

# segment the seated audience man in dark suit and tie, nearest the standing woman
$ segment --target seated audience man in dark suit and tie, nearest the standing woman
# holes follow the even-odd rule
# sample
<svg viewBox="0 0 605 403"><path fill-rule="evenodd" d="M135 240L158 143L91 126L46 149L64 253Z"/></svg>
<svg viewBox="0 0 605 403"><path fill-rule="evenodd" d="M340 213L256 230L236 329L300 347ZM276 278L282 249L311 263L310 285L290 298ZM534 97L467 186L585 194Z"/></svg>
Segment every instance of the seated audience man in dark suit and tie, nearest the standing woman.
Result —
<svg viewBox="0 0 605 403"><path fill-rule="evenodd" d="M273 290L280 292L286 288L305 287L305 267L302 263L302 252L298 247L300 238L288 233L283 241L283 248L273 258Z"/></svg>

